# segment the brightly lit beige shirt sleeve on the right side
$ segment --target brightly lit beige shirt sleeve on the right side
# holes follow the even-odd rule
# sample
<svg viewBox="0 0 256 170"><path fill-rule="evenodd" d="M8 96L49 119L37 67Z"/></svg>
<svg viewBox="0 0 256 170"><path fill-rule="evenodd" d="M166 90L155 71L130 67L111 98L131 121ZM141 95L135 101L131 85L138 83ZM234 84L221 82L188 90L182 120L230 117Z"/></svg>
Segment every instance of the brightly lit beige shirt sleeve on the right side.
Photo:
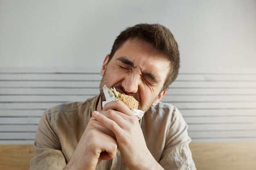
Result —
<svg viewBox="0 0 256 170"><path fill-rule="evenodd" d="M162 152L160 165L165 170L196 170L189 143L191 141L187 132L188 125L180 111L174 108L171 122L166 135L166 143Z"/></svg>

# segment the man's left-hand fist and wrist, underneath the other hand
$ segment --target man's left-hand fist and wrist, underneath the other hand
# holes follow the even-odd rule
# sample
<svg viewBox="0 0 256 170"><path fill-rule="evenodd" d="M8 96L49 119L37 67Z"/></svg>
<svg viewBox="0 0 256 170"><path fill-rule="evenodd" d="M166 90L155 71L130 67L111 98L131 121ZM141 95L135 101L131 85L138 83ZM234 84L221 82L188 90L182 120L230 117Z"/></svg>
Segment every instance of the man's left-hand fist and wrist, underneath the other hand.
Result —
<svg viewBox="0 0 256 170"><path fill-rule="evenodd" d="M114 134L91 118L64 170L95 170L101 160L113 159L117 153Z"/></svg>

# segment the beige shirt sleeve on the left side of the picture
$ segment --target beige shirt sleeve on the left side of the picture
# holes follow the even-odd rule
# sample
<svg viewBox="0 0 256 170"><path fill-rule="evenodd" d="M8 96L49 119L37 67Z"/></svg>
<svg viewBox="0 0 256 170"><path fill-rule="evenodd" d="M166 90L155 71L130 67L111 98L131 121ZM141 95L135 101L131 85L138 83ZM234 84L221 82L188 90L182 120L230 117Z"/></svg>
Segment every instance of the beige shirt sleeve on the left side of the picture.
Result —
<svg viewBox="0 0 256 170"><path fill-rule="evenodd" d="M30 170L63 170L66 166L65 157L50 110L41 117L34 142L34 158L30 162Z"/></svg>

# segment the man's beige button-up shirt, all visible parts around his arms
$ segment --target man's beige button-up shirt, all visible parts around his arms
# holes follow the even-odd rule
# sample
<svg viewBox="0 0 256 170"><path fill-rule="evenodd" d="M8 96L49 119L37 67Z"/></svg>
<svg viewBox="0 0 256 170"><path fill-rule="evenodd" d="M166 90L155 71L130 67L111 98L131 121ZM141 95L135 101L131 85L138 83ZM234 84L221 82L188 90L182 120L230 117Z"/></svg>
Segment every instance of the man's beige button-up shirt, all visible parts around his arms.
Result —
<svg viewBox="0 0 256 170"><path fill-rule="evenodd" d="M36 131L30 170L62 170L70 161L99 96L61 104L45 111ZM195 170L187 124L177 108L159 102L140 120L146 144L165 170ZM121 154L101 161L96 170L128 170Z"/></svg>

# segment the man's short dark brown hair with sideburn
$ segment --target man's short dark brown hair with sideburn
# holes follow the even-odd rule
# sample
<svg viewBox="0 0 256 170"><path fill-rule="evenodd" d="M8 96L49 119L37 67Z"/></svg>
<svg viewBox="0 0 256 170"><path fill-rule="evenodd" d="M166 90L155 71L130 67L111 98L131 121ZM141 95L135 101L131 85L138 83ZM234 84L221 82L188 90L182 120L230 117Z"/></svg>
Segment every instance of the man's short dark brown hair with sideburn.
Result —
<svg viewBox="0 0 256 170"><path fill-rule="evenodd" d="M111 49L109 61L117 49L119 49L127 40L133 38L149 42L157 51L166 55L171 62L170 70L162 90L168 88L168 86L177 78L180 68L180 53L177 42L171 31L160 24L137 24L128 27L117 36Z"/></svg>

